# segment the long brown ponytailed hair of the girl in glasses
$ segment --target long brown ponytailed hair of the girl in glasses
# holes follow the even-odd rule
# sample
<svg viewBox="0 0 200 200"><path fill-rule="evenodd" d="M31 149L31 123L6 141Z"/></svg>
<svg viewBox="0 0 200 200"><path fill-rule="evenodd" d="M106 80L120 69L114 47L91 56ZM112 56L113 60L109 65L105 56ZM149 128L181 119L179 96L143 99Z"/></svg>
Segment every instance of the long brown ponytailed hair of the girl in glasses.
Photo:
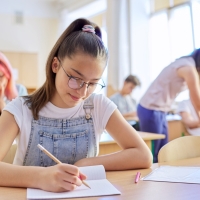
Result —
<svg viewBox="0 0 200 200"><path fill-rule="evenodd" d="M83 32L84 25L92 25L95 34ZM40 109L47 104L55 92L55 76L52 71L54 57L60 60L66 56L71 58L77 52L89 54L95 58L101 58L107 63L108 52L102 42L100 28L87 19L77 19L73 21L63 32L51 50L46 63L46 81L41 88L33 94L24 97L25 104L31 109L35 120L38 119Z"/></svg>

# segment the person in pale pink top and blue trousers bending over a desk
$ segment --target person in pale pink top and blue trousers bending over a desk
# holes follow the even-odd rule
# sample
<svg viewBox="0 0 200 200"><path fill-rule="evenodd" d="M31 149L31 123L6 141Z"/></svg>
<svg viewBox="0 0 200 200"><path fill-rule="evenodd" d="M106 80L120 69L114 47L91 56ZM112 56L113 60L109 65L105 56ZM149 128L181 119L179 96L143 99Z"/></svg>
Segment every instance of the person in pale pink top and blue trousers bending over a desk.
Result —
<svg viewBox="0 0 200 200"><path fill-rule="evenodd" d="M165 134L166 138L155 141L154 162L160 148L168 142L166 113L170 111L176 96L189 89L191 102L200 116L200 49L181 57L165 67L150 85L137 109L140 130Z"/></svg>

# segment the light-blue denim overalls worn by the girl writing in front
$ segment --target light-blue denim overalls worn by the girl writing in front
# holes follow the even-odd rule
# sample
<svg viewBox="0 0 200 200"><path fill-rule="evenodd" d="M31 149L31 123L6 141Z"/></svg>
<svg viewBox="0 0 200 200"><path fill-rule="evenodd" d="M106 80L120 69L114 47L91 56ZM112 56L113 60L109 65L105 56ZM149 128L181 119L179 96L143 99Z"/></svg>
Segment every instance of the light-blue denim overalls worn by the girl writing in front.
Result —
<svg viewBox="0 0 200 200"><path fill-rule="evenodd" d="M97 155L97 144L91 115L93 95L85 100L85 116L74 119L52 119L39 116L32 120L31 134L23 165L52 166L56 163L44 154L37 144L41 144L62 163L76 161Z"/></svg>

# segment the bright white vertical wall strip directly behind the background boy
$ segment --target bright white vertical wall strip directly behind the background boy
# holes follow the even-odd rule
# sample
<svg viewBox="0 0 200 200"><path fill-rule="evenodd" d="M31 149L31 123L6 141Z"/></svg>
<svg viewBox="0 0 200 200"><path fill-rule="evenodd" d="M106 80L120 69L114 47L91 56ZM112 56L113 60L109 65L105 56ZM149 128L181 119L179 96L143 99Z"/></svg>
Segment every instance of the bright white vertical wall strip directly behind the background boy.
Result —
<svg viewBox="0 0 200 200"><path fill-rule="evenodd" d="M149 58L149 0L130 0L131 7L131 72L138 76L142 86L133 97L140 100L151 83Z"/></svg>

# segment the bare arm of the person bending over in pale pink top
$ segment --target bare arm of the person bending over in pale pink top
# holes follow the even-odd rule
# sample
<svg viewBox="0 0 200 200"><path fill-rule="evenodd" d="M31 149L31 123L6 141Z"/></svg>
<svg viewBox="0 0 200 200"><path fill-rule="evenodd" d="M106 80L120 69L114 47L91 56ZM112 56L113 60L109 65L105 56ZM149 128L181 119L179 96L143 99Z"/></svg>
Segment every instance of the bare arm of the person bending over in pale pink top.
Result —
<svg viewBox="0 0 200 200"><path fill-rule="evenodd" d="M177 73L187 83L191 102L200 118L200 85L196 68L190 66L181 67L177 70Z"/></svg>

